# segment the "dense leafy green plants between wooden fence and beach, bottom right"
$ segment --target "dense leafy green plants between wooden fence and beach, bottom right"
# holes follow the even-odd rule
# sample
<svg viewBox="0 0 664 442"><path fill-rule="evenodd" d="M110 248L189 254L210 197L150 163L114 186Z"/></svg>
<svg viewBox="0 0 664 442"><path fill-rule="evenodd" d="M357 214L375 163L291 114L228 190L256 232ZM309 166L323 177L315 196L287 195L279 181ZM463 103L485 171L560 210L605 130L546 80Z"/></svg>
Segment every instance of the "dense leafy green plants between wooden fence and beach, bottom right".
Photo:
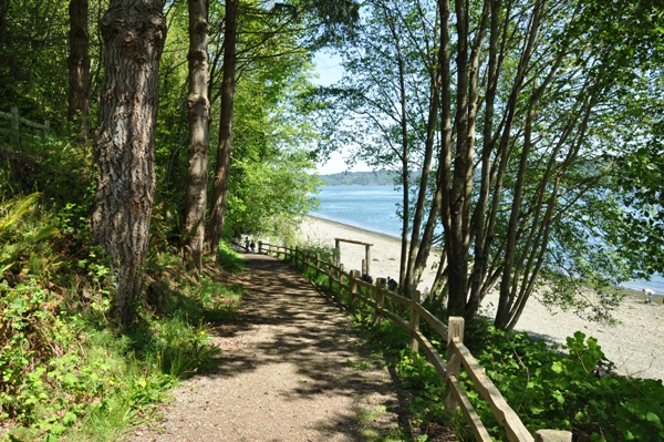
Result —
<svg viewBox="0 0 664 442"><path fill-rule="evenodd" d="M487 376L531 432L570 430L579 441L656 441L664 435L664 407L657 399L664 394L662 382L608 374L613 366L594 338L578 331L560 353L526 333L506 335L487 326L470 342ZM464 379L483 422L502 440L488 404Z"/></svg>

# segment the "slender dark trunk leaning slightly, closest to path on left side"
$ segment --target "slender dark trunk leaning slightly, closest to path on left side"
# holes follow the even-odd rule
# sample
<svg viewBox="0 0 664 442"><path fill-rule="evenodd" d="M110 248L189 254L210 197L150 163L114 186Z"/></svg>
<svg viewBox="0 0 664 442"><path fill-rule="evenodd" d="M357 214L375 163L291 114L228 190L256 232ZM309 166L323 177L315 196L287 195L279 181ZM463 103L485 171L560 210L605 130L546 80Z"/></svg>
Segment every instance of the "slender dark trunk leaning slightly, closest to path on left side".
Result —
<svg viewBox="0 0 664 442"><path fill-rule="evenodd" d="M226 214L226 194L230 169L230 141L232 135L232 107L235 101L236 74L236 38L237 38L238 1L226 1L226 29L224 31L224 81L221 83L221 116L219 122L219 146L217 148L217 166L215 167L215 185L210 206L206 239L210 251L219 249L219 239L224 228Z"/></svg>

